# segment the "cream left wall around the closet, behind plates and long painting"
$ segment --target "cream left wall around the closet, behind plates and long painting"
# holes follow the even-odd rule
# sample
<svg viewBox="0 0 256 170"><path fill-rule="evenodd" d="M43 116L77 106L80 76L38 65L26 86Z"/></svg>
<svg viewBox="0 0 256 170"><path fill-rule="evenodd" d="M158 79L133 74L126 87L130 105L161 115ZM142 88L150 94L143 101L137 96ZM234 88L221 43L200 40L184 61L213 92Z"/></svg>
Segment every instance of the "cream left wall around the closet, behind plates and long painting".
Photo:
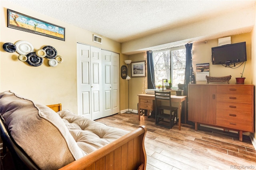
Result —
<svg viewBox="0 0 256 170"><path fill-rule="evenodd" d="M66 28L66 40L56 40L7 27L7 8L62 26ZM10 4L0 3L0 91L13 90L16 93L44 105L62 103L63 109L77 113L77 85L76 85L76 43L86 43L109 51L120 53L121 45L118 42L102 37L102 44L92 42L92 32L74 27L70 24L38 14L35 11ZM39 67L32 67L18 60L18 53L4 51L2 45L6 42L15 43L25 40L34 46L34 49L51 45L63 57L63 62L57 67L50 67L48 59ZM120 61L126 55L120 54ZM120 66L122 63L120 63ZM120 109L126 109L125 81L120 80Z"/></svg>

